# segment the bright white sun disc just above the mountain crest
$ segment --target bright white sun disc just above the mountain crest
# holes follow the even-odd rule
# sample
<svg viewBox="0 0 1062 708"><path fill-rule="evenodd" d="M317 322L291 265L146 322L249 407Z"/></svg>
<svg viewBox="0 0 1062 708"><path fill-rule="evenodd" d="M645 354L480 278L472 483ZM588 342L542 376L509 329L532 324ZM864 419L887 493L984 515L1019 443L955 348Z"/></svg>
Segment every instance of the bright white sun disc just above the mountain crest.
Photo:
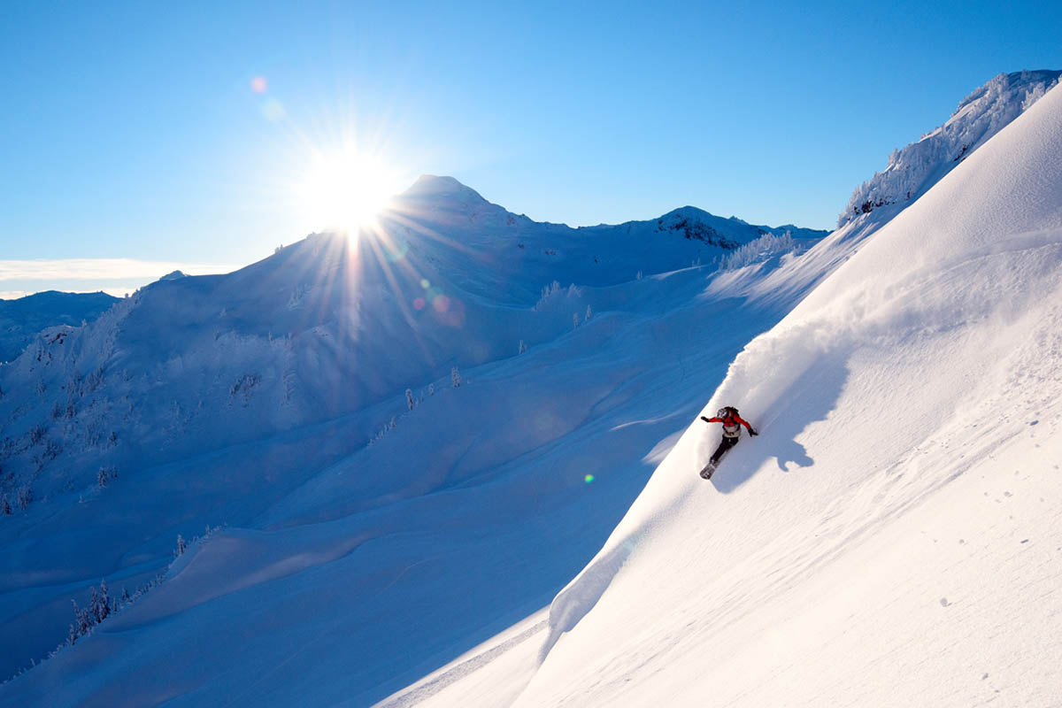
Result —
<svg viewBox="0 0 1062 708"><path fill-rule="evenodd" d="M304 218L314 230L349 238L373 225L395 189L392 170L374 155L346 148L315 153L299 186Z"/></svg>

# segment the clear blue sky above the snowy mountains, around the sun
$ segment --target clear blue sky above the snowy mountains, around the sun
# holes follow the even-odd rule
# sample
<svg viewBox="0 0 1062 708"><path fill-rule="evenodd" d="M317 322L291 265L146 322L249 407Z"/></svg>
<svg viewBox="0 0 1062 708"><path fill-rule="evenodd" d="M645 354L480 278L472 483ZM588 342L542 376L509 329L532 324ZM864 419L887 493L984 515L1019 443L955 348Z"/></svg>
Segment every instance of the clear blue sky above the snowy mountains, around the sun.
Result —
<svg viewBox="0 0 1062 708"><path fill-rule="evenodd" d="M344 136L541 221L829 228L974 88L1062 68L1051 5L20 3L0 292L46 287L25 259L258 260L324 226L295 192Z"/></svg>

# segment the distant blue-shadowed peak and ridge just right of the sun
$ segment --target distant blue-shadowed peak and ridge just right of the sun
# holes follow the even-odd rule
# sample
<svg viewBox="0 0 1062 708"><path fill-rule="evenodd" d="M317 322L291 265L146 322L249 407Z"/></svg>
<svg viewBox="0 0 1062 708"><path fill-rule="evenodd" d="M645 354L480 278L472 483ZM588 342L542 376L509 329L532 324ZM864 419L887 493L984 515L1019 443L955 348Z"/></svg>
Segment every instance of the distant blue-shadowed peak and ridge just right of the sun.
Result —
<svg viewBox="0 0 1062 708"><path fill-rule="evenodd" d="M433 262L463 274L462 287L508 305L528 305L541 288L609 287L637 274L709 265L758 238L788 234L808 247L828 231L771 227L685 206L656 219L571 227L536 222L483 198L453 177L423 175L381 214L399 249L431 242Z"/></svg>

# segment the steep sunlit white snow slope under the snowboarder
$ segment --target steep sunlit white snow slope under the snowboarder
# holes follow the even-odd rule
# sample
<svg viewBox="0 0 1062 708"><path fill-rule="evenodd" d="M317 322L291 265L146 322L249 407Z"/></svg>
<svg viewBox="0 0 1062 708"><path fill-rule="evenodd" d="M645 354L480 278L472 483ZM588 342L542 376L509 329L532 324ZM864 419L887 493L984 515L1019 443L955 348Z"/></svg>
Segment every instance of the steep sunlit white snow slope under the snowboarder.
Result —
<svg viewBox="0 0 1062 708"><path fill-rule="evenodd" d="M1054 89L746 347L763 435L683 434L513 705L1058 705L1060 332Z"/></svg>

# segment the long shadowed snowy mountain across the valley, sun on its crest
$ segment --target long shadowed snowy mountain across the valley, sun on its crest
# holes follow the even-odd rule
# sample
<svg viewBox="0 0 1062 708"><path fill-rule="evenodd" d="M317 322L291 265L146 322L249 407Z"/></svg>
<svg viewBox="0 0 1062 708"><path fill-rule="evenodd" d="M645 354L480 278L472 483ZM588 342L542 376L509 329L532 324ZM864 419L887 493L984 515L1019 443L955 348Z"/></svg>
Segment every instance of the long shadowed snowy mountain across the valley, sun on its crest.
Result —
<svg viewBox="0 0 1062 708"><path fill-rule="evenodd" d="M406 408L406 388L419 396L453 366L551 342L626 297L587 287L709 262L772 234L691 207L571 229L422 177L360 249L315 235L228 275L170 274L91 327L41 332L0 370L3 491L81 490L100 466L169 462L392 399L352 441L365 444ZM783 234L801 248L825 235Z"/></svg>

